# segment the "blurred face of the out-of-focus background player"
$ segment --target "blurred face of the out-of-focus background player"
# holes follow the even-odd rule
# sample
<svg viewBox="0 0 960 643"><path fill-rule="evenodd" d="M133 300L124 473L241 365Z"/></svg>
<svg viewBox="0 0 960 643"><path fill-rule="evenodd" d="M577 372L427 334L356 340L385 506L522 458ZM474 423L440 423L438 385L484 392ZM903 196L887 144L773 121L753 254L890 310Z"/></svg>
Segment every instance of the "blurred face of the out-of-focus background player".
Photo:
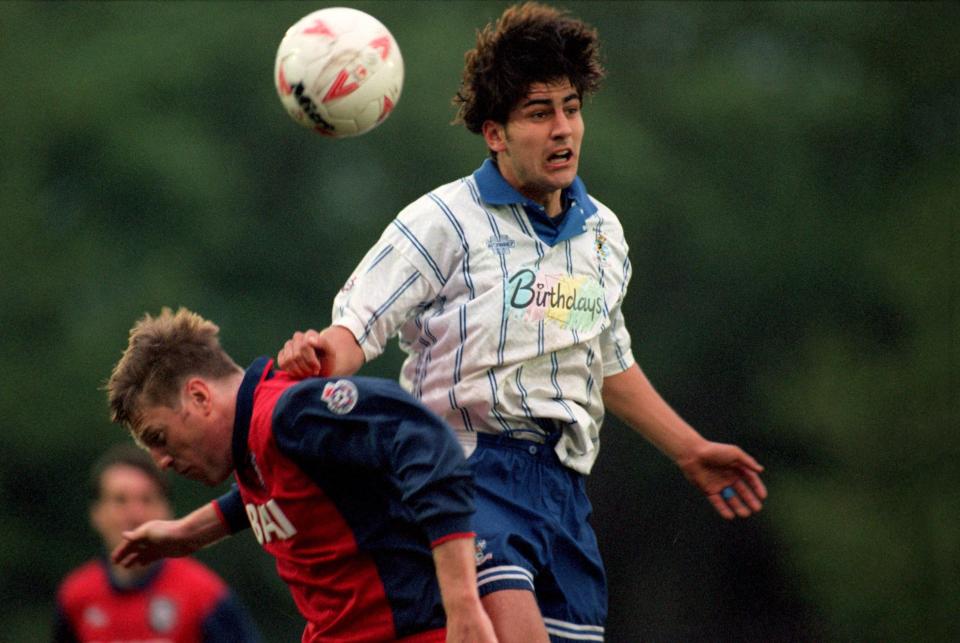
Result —
<svg viewBox="0 0 960 643"><path fill-rule="evenodd" d="M150 476L137 467L116 464L100 476L100 498L90 518L108 550L112 550L123 540L124 531L148 520L170 518L170 505Z"/></svg>

